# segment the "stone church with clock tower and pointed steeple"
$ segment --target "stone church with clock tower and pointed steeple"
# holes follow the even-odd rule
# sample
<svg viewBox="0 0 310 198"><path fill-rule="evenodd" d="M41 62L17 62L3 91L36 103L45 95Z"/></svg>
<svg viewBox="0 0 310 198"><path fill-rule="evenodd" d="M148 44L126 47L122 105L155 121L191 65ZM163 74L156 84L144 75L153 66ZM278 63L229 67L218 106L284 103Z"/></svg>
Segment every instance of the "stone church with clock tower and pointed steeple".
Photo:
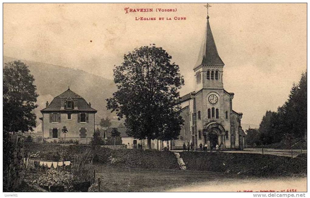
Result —
<svg viewBox="0 0 310 198"><path fill-rule="evenodd" d="M193 65L194 91L181 97L181 115L184 125L173 149L182 149L183 143L216 144L226 149L243 149L246 134L241 128L242 113L232 110L234 93L224 89L224 62L219 57L211 32L209 16L198 60Z"/></svg>

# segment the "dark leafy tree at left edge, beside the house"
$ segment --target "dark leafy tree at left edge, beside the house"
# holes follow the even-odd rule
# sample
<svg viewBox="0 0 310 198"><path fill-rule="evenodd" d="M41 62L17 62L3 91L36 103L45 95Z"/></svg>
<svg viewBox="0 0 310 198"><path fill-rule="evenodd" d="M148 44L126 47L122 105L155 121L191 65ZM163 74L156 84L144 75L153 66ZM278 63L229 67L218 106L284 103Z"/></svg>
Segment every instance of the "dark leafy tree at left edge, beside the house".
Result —
<svg viewBox="0 0 310 198"><path fill-rule="evenodd" d="M3 130L8 132L33 131L36 115L32 110L38 105L28 66L21 61L5 63L3 67Z"/></svg>

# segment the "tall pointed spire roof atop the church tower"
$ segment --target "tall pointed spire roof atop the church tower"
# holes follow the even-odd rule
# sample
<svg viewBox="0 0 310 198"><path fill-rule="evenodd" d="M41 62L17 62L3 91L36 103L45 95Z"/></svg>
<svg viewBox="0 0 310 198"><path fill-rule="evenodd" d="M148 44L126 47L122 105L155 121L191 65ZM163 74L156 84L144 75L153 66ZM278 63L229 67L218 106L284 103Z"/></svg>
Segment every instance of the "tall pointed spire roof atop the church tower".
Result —
<svg viewBox="0 0 310 198"><path fill-rule="evenodd" d="M216 49L214 38L209 23L209 15L207 16L206 32L199 51L198 60L195 68L200 65L223 65L224 62L219 57Z"/></svg>

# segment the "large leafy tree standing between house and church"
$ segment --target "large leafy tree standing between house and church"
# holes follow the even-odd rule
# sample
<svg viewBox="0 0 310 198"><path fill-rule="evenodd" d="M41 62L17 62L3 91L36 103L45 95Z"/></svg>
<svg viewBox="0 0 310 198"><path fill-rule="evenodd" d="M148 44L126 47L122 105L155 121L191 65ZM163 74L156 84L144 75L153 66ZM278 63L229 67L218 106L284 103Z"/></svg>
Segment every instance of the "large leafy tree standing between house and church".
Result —
<svg viewBox="0 0 310 198"><path fill-rule="evenodd" d="M179 89L184 85L179 66L161 47L143 46L124 55L115 67L117 92L107 99L107 108L125 117L129 135L151 140L171 140L179 136Z"/></svg>

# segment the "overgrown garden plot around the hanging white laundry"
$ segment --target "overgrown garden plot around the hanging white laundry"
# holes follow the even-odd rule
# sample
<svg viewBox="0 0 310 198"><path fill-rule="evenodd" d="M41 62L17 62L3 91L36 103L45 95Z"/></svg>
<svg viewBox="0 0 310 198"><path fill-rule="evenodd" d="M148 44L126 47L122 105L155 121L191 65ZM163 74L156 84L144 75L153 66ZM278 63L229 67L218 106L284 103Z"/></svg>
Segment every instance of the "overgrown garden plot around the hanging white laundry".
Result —
<svg viewBox="0 0 310 198"><path fill-rule="evenodd" d="M72 149L72 148L71 148ZM78 149L75 148L75 151ZM78 150L78 152L68 153L68 150L55 150L53 154L46 152L44 149L29 154L27 158L27 171L25 183L33 185L42 191L49 192L87 192L88 188L95 181L95 172L92 168L92 160L94 151L89 148ZM58 153L59 152L59 153ZM34 152L29 152L34 153ZM72 163L68 166L39 166L38 160L33 160L31 157L47 160L44 162L52 164L51 160L64 162L64 159L70 159ZM50 157L50 158L49 158ZM50 160L50 161L48 161ZM32 163L36 162L36 163ZM57 162L57 161L56 161ZM32 165L29 167L29 164ZM38 166L36 166L37 164Z"/></svg>

